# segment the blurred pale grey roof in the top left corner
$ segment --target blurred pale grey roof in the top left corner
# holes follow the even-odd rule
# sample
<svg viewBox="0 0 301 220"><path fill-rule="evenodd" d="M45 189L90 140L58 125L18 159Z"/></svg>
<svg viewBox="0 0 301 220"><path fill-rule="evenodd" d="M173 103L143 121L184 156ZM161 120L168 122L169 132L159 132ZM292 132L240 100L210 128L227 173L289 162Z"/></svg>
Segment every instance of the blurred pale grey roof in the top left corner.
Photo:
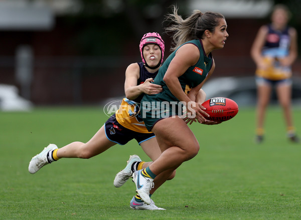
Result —
<svg viewBox="0 0 301 220"><path fill-rule="evenodd" d="M80 0L1 0L0 30L51 30L55 16L78 13Z"/></svg>

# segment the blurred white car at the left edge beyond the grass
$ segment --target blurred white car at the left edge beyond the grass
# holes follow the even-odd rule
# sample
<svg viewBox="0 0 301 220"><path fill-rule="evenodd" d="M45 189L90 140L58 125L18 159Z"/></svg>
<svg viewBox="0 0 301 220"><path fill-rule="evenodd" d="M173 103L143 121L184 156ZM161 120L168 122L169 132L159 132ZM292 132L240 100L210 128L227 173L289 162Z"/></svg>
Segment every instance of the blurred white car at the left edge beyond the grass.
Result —
<svg viewBox="0 0 301 220"><path fill-rule="evenodd" d="M30 101L19 96L16 86L0 84L1 111L30 111L32 107Z"/></svg>

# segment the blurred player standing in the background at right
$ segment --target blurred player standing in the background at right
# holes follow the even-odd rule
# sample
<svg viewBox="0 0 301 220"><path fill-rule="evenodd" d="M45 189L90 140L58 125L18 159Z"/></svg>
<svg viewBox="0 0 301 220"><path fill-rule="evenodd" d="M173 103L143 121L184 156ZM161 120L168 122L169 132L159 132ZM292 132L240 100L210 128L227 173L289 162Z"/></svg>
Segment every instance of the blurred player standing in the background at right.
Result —
<svg viewBox="0 0 301 220"><path fill-rule="evenodd" d="M256 63L257 127L255 141L263 141L264 119L273 87L284 111L287 137L298 142L291 113L291 65L297 58L297 33L287 26L290 12L284 5L276 5L271 23L260 27L251 48Z"/></svg>

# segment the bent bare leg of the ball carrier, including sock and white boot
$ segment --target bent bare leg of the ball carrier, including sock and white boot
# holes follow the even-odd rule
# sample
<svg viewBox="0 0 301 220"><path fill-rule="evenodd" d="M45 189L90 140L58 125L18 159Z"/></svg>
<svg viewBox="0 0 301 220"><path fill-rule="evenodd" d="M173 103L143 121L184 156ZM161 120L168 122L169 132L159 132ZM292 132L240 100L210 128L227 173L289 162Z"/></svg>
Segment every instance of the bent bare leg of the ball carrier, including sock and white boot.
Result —
<svg viewBox="0 0 301 220"><path fill-rule="evenodd" d="M173 127L173 131L170 127ZM152 131L163 153L149 167L133 174L137 192L147 204L150 203L149 192L154 178L165 171L175 170L184 161L196 156L200 148L193 132L180 117L158 121Z"/></svg>

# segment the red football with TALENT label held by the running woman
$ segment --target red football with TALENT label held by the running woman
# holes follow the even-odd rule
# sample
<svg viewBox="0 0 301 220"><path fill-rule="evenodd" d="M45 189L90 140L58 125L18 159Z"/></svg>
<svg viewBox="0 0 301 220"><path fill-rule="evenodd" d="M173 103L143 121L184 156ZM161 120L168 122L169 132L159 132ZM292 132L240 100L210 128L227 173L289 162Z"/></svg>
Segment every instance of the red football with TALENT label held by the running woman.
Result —
<svg viewBox="0 0 301 220"><path fill-rule="evenodd" d="M204 106L210 117L205 117L210 121L227 121L233 118L238 112L238 105L232 99L216 97L205 101Z"/></svg>

